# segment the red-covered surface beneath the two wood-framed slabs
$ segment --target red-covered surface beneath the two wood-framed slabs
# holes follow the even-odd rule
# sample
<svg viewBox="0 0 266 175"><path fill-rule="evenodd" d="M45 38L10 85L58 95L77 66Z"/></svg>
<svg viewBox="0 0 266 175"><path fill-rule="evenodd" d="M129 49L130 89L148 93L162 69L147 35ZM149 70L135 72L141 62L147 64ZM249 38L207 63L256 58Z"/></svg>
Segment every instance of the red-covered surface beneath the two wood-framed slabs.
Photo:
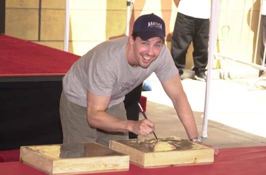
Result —
<svg viewBox="0 0 266 175"><path fill-rule="evenodd" d="M266 173L266 146L222 148L213 164L141 168L130 164L128 171L89 173L116 175L264 175ZM0 174L45 174L19 161L0 163Z"/></svg>

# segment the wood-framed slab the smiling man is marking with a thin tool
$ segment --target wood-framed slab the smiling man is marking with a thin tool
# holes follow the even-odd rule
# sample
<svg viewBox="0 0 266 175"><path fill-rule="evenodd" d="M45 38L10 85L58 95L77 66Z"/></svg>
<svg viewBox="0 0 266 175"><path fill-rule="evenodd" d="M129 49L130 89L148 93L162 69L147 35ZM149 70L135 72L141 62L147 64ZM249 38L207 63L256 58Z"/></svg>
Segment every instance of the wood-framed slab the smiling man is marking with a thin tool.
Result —
<svg viewBox="0 0 266 175"><path fill-rule="evenodd" d="M130 162L140 167L214 162L213 148L176 136L111 140L109 147L130 155Z"/></svg>

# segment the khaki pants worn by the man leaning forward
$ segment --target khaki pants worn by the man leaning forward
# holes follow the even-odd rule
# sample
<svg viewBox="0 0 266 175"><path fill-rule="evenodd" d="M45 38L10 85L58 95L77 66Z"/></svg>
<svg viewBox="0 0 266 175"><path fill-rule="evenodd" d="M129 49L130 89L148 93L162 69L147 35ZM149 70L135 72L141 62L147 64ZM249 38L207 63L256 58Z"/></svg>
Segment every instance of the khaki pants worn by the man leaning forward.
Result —
<svg viewBox="0 0 266 175"><path fill-rule="evenodd" d="M119 119L126 119L124 103L113 105L106 112ZM109 146L109 140L128 139L128 132L108 132L89 126L87 108L69 101L64 93L60 98L60 119L63 143L98 142Z"/></svg>

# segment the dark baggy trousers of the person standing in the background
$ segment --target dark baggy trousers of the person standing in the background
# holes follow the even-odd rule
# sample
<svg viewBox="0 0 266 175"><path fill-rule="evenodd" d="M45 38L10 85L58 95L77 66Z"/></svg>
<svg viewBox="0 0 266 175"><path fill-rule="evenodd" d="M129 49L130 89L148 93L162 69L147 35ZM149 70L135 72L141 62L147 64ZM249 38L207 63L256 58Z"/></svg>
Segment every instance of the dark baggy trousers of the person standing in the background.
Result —
<svg viewBox="0 0 266 175"><path fill-rule="evenodd" d="M210 20L177 13L172 36L171 54L180 74L186 65L186 53L193 41L194 70L204 71L208 63Z"/></svg>

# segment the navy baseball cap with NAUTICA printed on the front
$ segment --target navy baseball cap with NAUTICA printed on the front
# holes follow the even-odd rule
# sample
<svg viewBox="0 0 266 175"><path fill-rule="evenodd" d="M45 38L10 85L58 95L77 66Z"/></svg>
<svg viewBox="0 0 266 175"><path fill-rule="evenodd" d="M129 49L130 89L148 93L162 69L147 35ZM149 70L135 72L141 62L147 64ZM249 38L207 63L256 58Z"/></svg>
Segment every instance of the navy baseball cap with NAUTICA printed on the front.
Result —
<svg viewBox="0 0 266 175"><path fill-rule="evenodd" d="M141 15L134 22L133 33L138 33L142 40L148 40L155 36L165 40L164 20L154 13Z"/></svg>

